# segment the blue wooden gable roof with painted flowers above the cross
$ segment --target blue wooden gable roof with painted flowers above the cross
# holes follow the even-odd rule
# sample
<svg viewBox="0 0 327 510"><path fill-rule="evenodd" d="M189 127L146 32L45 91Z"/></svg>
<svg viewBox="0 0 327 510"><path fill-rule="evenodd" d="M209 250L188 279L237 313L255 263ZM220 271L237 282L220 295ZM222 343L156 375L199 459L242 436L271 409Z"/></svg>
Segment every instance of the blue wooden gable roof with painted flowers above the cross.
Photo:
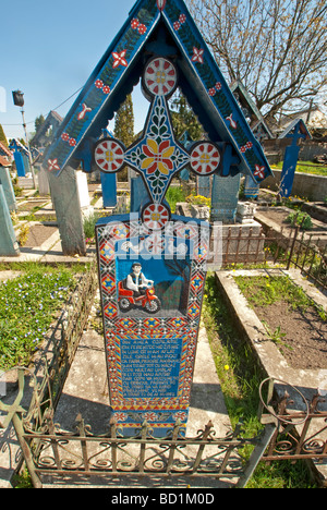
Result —
<svg viewBox="0 0 327 510"><path fill-rule="evenodd" d="M44 166L60 173L87 141L97 139L128 94L145 62L164 56L174 61L179 85L213 142L229 142L240 158L239 172L257 182L271 170L232 92L183 0L138 0L80 93Z"/></svg>

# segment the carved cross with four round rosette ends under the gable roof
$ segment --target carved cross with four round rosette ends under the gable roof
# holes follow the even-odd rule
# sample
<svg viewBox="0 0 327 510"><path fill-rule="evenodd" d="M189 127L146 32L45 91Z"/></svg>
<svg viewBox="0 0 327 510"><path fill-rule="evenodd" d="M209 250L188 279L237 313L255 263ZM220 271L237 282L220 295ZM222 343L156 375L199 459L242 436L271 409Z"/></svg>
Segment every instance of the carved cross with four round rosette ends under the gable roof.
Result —
<svg viewBox="0 0 327 510"><path fill-rule="evenodd" d="M215 143L196 142L186 150L175 141L167 100L178 86L178 72L170 60L150 59L142 86L152 101L143 137L129 148L118 139L102 138L96 144L94 156L102 172L114 173L129 165L141 173L152 198L141 217L146 228L159 230L170 219L162 201L173 175L187 165L197 175L210 175L219 169L222 158Z"/></svg>

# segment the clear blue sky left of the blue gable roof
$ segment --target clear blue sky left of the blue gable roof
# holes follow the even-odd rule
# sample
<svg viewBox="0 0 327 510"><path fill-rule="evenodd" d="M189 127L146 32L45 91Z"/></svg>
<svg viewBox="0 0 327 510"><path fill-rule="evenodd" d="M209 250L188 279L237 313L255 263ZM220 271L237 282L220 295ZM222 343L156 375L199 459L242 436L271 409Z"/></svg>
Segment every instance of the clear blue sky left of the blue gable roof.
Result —
<svg viewBox="0 0 327 510"><path fill-rule="evenodd" d="M64 117L135 0L2 0L0 124L8 138L24 137L22 114L12 90L25 99L27 131L37 116L56 109ZM1 2L1 3L2 3ZM149 104L133 93L135 132L143 127ZM17 125L9 125L17 124Z"/></svg>

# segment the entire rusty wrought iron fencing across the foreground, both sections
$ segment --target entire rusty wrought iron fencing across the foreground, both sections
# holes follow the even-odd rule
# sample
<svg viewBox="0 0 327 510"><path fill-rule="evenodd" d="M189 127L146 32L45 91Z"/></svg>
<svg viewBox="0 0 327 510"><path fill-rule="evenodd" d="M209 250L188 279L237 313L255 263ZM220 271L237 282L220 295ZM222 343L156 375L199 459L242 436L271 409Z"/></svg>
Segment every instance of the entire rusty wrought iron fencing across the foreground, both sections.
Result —
<svg viewBox="0 0 327 510"><path fill-rule="evenodd" d="M26 376L33 381L35 393L27 412L21 406ZM50 388L47 368L45 379ZM265 403L262 389L267 381L268 403ZM13 422L36 488L43 486L44 475L214 477L234 487L244 487L259 461L327 461L327 412L319 410L325 400L315 394L307 401L298 388L283 381L266 379L262 382L261 411L266 410L266 413L261 413L261 420L265 428L253 438L244 437L242 424L226 437L217 438L211 422L195 437L183 437L179 422L165 438L155 437L147 422L134 437L123 436L114 421L110 422L107 433L94 435L81 414L76 417L75 432L63 430L53 420L53 401L47 398L35 374L20 368L19 385L13 404L0 401L0 410L8 413L2 426ZM276 385L286 388L283 394L280 388L275 391ZM300 394L303 410L292 406L294 402L288 391ZM249 446L253 452L245 461L243 451Z"/></svg>

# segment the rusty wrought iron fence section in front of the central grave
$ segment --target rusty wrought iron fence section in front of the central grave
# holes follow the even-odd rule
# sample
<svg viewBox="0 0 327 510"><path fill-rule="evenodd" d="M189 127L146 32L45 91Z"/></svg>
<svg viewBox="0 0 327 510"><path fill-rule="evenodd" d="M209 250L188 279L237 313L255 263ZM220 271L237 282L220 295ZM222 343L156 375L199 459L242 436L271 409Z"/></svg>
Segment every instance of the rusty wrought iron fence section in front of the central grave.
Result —
<svg viewBox="0 0 327 510"><path fill-rule="evenodd" d="M121 428L110 422L109 430L94 435L92 426L80 414L75 432L60 428L53 421L51 379L45 361L45 380L39 384L35 374L19 368L19 394L14 404L0 401L0 410L8 413L2 426L13 422L24 459L36 488L43 486L43 475L100 476L192 476L215 477L244 486L254 467L249 469L242 457L245 446L254 447L256 463L261 459L271 432L244 438L239 424L226 437L217 438L209 422L195 437L183 437L178 421L165 438L153 435L149 423L134 437L124 437ZM34 398L27 412L21 406L25 378L33 381ZM45 391L44 385L48 388ZM255 465L256 465L255 463Z"/></svg>

